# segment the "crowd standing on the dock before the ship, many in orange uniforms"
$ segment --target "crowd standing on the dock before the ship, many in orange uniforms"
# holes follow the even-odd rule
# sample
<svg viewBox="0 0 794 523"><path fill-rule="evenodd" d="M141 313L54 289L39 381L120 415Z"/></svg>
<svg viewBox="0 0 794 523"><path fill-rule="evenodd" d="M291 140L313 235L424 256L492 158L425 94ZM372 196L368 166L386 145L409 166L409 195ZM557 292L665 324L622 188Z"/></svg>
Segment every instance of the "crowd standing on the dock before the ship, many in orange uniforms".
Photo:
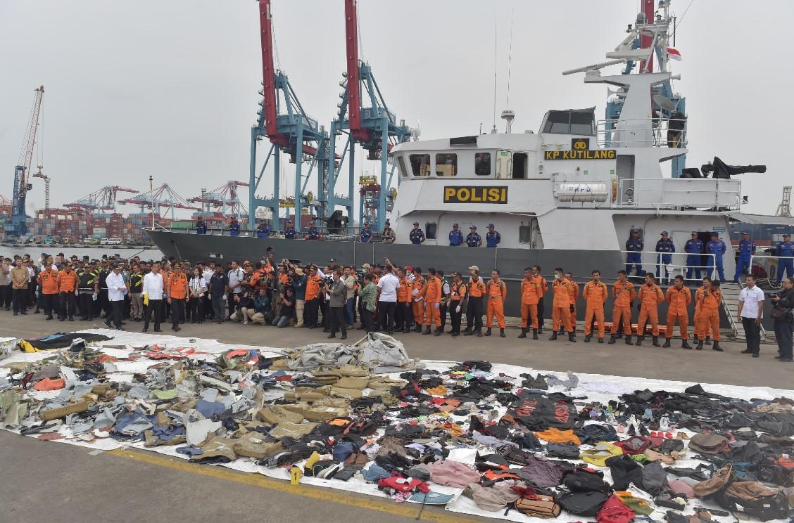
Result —
<svg viewBox="0 0 794 523"><path fill-rule="evenodd" d="M533 339L543 333L545 296L551 289L552 331L549 340L567 334L576 342L577 306L584 302L584 342L595 336L603 343L623 338L627 345L642 345L649 326L653 346L669 347L675 326L681 347L722 351L719 345L720 282L703 277L703 285L690 291L684 277L676 276L663 291L656 278L646 273L642 284L630 281L620 270L614 284L601 281L592 271L583 288L571 273L554 269L549 284L541 267L527 267L519 284L521 293L521 334ZM746 332L747 349L754 357L760 351L760 325L764 293L755 287L753 276L740 296L738 322ZM794 281L784 279L782 291L772 300L784 313L773 314L781 345L781 361L792 361L791 308L794 308ZM0 260L0 307L13 314L43 313L45 319L91 321L104 319L109 328L124 329L126 322L143 323L142 330L161 332L170 319L172 330L184 323L237 321L244 325L322 329L328 338L347 338L349 329L388 334L451 334L453 337L491 336L499 329L505 338L504 303L507 285L498 270L485 279L476 265L468 274L453 272L449 280L443 271L410 265L364 264L359 270L330 260L325 267L295 265L287 259L276 261L272 248L260 261L198 261L191 265L175 258L143 261L115 256L102 259L66 258L64 254L41 254L38 260L27 255ZM607 300L612 299L611 324L607 324ZM659 305L667 303L666 326L659 317ZM689 311L694 303L693 341L689 344ZM638 307L636 334L632 335L632 309ZM485 322L483 323L483 316ZM464 326L465 319L465 326ZM446 326L449 323L449 330ZM778 329L780 323L780 329ZM664 330L664 345L660 342ZM778 333L778 330L780 332Z"/></svg>

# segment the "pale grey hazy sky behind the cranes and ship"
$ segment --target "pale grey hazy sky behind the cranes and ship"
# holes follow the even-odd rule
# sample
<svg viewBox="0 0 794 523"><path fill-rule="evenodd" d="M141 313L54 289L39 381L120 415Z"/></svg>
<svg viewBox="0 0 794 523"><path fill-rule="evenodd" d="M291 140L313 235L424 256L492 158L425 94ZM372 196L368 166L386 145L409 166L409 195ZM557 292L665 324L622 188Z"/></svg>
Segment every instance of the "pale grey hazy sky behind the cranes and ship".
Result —
<svg viewBox="0 0 794 523"><path fill-rule="evenodd" d="M689 3L673 0L680 20ZM276 67L327 126L345 69L343 2L272 4ZM512 17L514 131L537 132L548 109L595 105L603 117L606 87L561 71L602 61L637 11L637 0L360 0L362 58L389 108L411 126L421 122L422 138L475 134L480 122L488 130L493 120L495 21L497 113L507 107ZM789 133L775 123L777 116L791 120L792 74L784 64L792 19L790 0L695 0L676 36L683 61L673 63L681 75L674 89L687 97L688 165L719 155L768 166L766 174L740 178L750 197L746 212L775 212L782 186L794 181ZM40 84L53 205L102 185L148 190L149 175L186 198L248 181L262 76L256 2L0 0L0 49L0 194L11 196ZM357 164L374 167L360 157ZM33 185L29 209L41 208L44 184Z"/></svg>

